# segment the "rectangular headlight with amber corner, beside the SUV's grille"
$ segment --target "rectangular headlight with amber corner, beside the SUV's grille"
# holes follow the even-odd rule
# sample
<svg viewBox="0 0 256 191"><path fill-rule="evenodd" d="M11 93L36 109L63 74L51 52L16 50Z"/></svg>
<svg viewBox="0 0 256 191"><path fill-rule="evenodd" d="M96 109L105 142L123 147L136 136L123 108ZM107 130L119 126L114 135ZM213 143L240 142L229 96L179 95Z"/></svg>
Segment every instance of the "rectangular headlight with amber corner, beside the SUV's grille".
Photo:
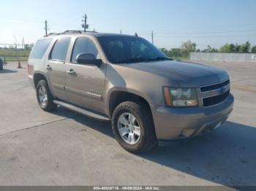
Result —
<svg viewBox="0 0 256 191"><path fill-rule="evenodd" d="M195 88L164 87L164 98L167 106L198 106Z"/></svg>

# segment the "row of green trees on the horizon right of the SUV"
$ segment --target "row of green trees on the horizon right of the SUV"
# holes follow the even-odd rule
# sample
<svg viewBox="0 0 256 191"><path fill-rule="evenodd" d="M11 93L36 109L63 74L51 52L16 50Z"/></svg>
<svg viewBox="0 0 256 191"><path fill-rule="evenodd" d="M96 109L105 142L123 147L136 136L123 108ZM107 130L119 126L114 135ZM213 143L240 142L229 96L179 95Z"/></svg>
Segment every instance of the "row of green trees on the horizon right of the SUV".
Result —
<svg viewBox="0 0 256 191"><path fill-rule="evenodd" d="M256 45L252 46L249 42L244 44L224 44L219 49L208 45L206 49L197 49L195 42L187 41L181 44L179 48L171 48L167 50L160 48L170 58L189 58L190 52L221 52L221 53L256 53Z"/></svg>

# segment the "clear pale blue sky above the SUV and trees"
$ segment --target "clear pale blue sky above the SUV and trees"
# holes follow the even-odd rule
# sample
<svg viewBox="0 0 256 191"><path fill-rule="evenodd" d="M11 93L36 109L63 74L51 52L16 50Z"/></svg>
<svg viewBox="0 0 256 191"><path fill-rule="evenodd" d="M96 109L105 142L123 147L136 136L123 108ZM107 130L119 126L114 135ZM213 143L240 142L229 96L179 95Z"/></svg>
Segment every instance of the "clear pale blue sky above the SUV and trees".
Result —
<svg viewBox="0 0 256 191"><path fill-rule="evenodd" d="M89 29L135 34L167 49L190 40L201 50L225 43L256 45L256 0L8 0L0 7L0 44L34 43L49 32Z"/></svg>

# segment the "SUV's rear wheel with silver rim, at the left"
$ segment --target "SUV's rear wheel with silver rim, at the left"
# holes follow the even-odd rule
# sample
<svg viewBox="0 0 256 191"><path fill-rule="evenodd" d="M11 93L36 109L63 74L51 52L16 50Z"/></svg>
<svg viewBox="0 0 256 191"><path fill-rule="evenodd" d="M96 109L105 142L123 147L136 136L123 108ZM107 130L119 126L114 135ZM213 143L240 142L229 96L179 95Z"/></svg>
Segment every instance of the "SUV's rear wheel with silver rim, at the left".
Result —
<svg viewBox="0 0 256 191"><path fill-rule="evenodd" d="M54 98L53 98L53 95L50 93L48 83L44 79L40 80L37 83L36 91L37 91L37 102L42 110L46 112L50 112L57 108L57 105L53 103Z"/></svg>

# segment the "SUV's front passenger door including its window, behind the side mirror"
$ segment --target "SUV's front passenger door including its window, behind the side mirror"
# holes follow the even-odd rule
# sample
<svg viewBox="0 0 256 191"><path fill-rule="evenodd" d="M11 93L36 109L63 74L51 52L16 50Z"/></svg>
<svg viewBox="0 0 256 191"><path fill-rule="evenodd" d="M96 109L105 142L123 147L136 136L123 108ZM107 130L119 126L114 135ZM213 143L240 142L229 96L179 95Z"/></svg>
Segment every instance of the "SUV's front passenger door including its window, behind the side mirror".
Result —
<svg viewBox="0 0 256 191"><path fill-rule="evenodd" d="M66 86L67 97L72 104L104 112L103 95L105 91L105 63L102 66L78 64L80 53L91 53L100 59L94 42L86 37L78 37L72 50L70 62L67 63Z"/></svg>

